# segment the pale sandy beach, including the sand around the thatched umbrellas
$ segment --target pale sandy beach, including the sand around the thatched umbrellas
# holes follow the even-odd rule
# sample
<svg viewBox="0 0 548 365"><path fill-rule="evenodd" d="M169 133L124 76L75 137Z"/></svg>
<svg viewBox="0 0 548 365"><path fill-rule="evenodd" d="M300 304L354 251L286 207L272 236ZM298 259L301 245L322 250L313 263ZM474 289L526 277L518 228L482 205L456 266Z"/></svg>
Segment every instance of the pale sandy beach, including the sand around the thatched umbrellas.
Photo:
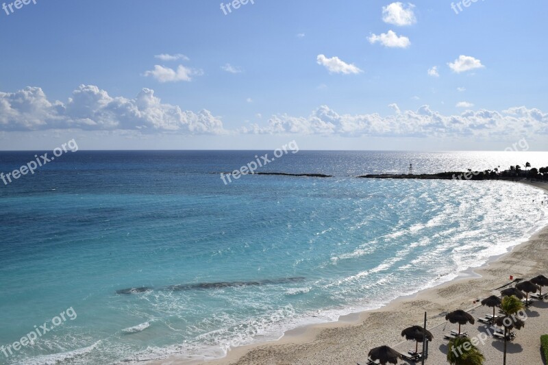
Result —
<svg viewBox="0 0 548 365"><path fill-rule="evenodd" d="M548 184L545 183L525 183L548 190ZM447 341L443 339L443 333L457 326L448 323L445 314L462 309L470 311L475 318L484 316L490 312L490 308L479 305L478 299L500 294L495 289L509 284L510 275L523 279L548 275L548 227L506 255L493 258L469 274L423 290L413 297L397 299L379 310L340 318L336 323L295 329L276 342L233 349L227 357L206 364L350 365L363 362L371 348L384 344L406 353L414 348L414 342L403 340L401 330L411 325L422 325L424 312L427 312L427 328L434 334L427 364L446 364ZM469 336L475 336L479 331L484 331L484 326L476 322L463 329ZM548 333L548 302L537 301L527 309L525 328L517 331L516 339L508 344L508 364L543 364L539 349L540 336L545 333ZM479 345L486 357L486 364L501 364L502 348L503 342L493 338ZM171 357L151 364L188 362ZM399 364L408 362L401 361Z"/></svg>

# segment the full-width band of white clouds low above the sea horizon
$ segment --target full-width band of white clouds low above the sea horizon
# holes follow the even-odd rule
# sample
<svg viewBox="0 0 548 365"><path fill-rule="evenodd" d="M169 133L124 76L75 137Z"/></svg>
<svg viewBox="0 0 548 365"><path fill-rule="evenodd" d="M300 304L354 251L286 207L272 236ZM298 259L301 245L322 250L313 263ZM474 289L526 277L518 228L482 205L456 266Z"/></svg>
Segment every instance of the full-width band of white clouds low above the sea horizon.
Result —
<svg viewBox="0 0 548 365"><path fill-rule="evenodd" d="M248 100L248 102L251 99ZM51 101L41 88L0 92L0 130L37 131L82 129L87 131L133 130L143 134L303 134L356 136L482 136L500 137L519 132L523 136L548 134L548 113L525 107L503 111L466 110L444 115L423 105L418 110L395 114L338 114L321 105L309 116L274 115L266 125L252 123L227 130L221 118L209 110L191 112L178 105L162 103L154 91L144 88L133 99L111 97L97 86L81 85L68 101ZM461 101L458 108L471 108Z"/></svg>

